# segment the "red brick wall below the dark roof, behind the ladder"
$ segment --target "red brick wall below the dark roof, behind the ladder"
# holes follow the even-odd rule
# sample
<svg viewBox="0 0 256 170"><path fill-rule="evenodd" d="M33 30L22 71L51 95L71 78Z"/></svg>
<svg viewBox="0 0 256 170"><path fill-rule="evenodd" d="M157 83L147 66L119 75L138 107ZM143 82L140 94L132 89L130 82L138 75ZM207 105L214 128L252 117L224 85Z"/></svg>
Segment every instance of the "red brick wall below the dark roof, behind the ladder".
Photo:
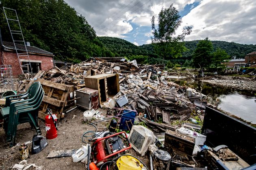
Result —
<svg viewBox="0 0 256 170"><path fill-rule="evenodd" d="M22 70L20 68L20 63L19 63L17 54L11 51L2 51L2 53L3 53L4 64L12 65L13 75L16 76L16 75L22 74ZM21 56L20 59L28 60L28 57ZM51 56L29 54L29 59L41 61L41 70L48 71L51 68L53 68L53 59Z"/></svg>

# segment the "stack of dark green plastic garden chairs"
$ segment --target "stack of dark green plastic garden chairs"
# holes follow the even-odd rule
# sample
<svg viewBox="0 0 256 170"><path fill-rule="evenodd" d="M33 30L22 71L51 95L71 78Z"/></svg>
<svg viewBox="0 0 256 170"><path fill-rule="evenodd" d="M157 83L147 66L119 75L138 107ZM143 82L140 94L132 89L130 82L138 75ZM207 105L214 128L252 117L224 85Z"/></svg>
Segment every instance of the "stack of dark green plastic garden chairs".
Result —
<svg viewBox="0 0 256 170"><path fill-rule="evenodd" d="M44 91L39 82L33 83L25 94L7 96L6 105L1 109L4 118L4 130L10 146L15 142L17 125L29 122L41 134L38 125L38 108L43 100Z"/></svg>

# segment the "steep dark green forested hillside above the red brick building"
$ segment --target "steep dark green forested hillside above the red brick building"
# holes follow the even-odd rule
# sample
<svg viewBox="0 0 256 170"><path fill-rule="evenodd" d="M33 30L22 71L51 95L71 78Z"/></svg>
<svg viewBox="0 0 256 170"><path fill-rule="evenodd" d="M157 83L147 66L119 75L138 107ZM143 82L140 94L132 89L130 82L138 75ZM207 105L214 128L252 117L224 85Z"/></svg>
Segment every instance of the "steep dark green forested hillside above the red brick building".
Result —
<svg viewBox="0 0 256 170"><path fill-rule="evenodd" d="M2 6L17 11L25 41L52 52L55 60L80 62L88 57L113 56L95 39L96 32L85 17L63 0L2 0ZM2 10L0 14L2 39L12 41ZM7 15L13 17L9 11Z"/></svg>

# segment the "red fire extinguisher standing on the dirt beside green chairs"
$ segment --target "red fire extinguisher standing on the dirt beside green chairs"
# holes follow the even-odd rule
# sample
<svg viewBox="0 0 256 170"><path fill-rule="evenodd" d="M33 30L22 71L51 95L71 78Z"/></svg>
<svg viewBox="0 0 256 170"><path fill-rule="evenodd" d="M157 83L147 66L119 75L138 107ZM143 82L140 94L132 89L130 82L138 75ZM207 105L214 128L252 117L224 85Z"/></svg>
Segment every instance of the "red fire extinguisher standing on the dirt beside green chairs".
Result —
<svg viewBox="0 0 256 170"><path fill-rule="evenodd" d="M57 117L52 115L52 110L47 108L48 115L46 116L46 139L54 139L57 134Z"/></svg>

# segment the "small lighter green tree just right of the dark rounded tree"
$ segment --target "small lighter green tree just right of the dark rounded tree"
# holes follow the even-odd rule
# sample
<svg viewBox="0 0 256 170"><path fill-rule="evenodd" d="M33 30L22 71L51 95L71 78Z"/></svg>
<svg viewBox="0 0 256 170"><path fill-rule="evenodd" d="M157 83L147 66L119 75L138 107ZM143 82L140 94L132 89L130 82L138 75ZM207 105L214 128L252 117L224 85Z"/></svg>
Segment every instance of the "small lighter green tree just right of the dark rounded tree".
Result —
<svg viewBox="0 0 256 170"><path fill-rule="evenodd" d="M213 61L212 64L215 66L215 69L217 71L218 67L224 68L226 64L221 64L224 62L224 60L227 60L229 58L228 53L226 53L225 50L221 48L217 48L215 52L213 52Z"/></svg>

